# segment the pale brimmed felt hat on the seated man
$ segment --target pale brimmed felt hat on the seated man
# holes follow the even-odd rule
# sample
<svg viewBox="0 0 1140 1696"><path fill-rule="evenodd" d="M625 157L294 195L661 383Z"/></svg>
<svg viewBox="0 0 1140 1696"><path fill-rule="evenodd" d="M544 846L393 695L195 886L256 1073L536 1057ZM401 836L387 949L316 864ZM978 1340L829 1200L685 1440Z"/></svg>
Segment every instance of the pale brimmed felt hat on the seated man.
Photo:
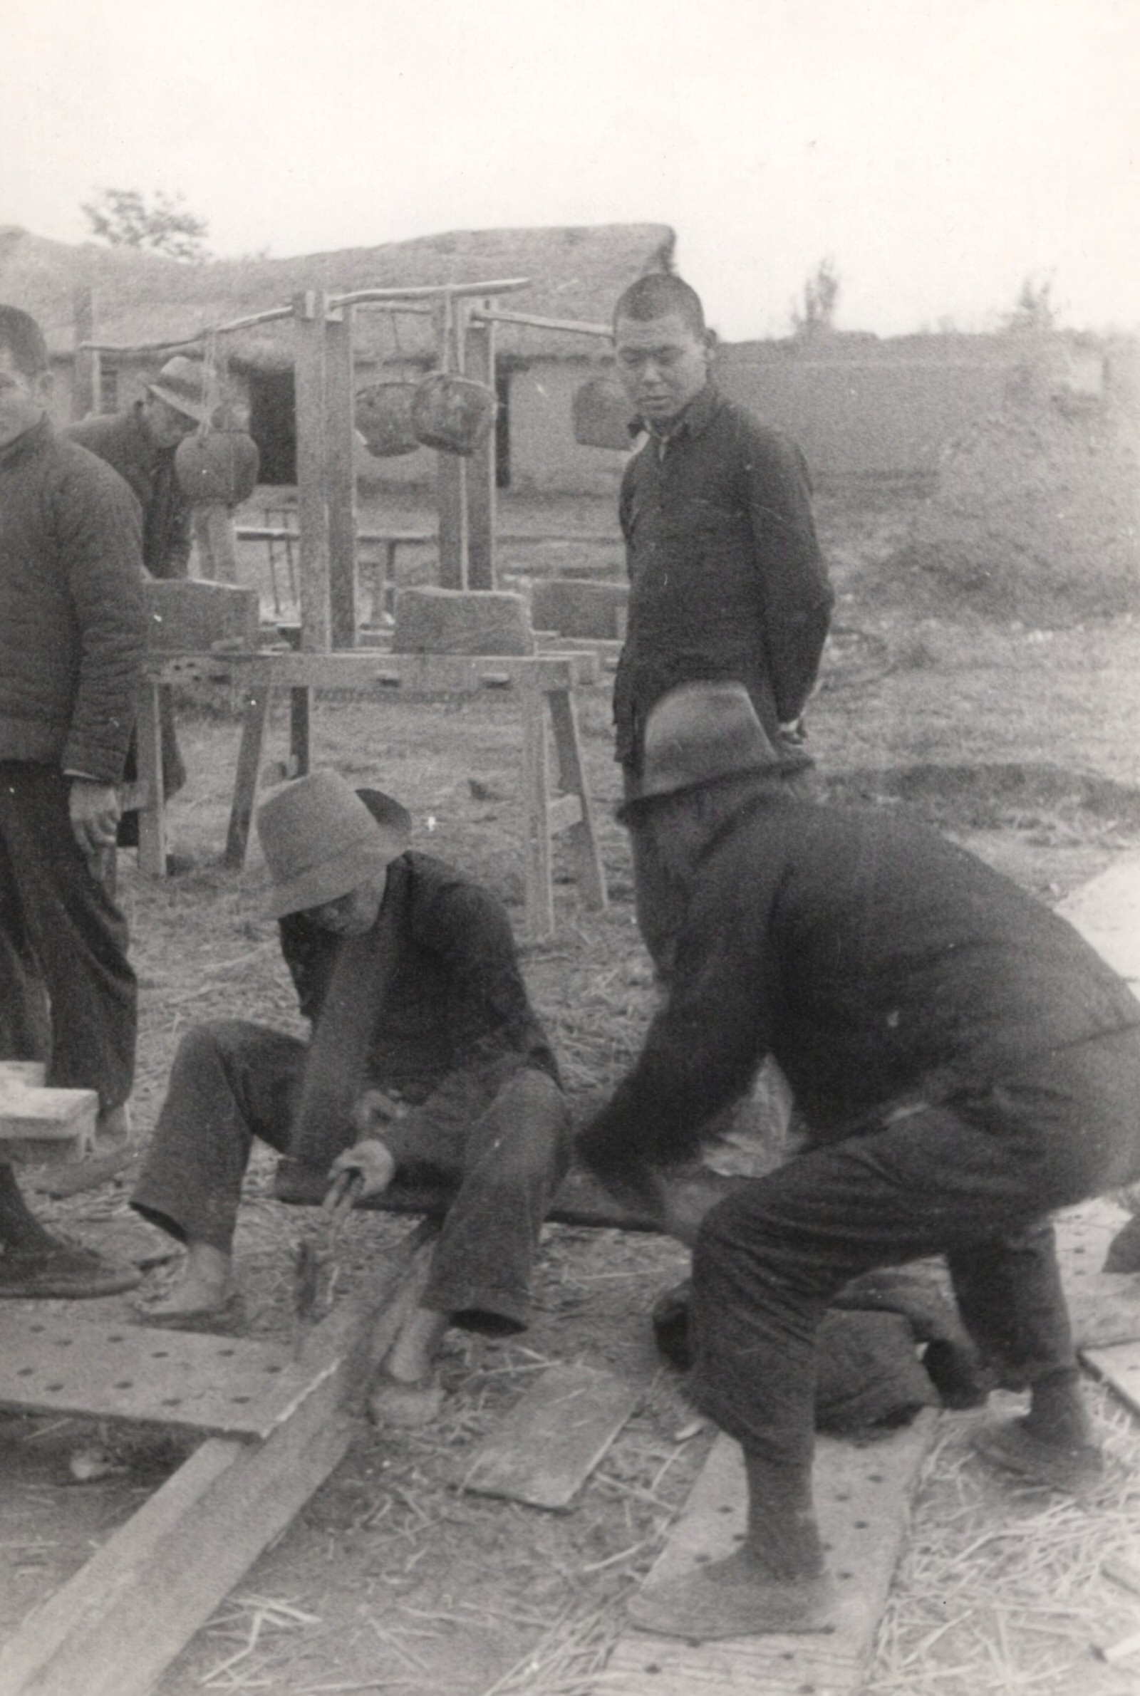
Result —
<svg viewBox="0 0 1140 1696"><path fill-rule="evenodd" d="M273 919L339 901L387 870L412 836L399 801L372 789L358 794L332 770L283 784L261 802L256 823Z"/></svg>

